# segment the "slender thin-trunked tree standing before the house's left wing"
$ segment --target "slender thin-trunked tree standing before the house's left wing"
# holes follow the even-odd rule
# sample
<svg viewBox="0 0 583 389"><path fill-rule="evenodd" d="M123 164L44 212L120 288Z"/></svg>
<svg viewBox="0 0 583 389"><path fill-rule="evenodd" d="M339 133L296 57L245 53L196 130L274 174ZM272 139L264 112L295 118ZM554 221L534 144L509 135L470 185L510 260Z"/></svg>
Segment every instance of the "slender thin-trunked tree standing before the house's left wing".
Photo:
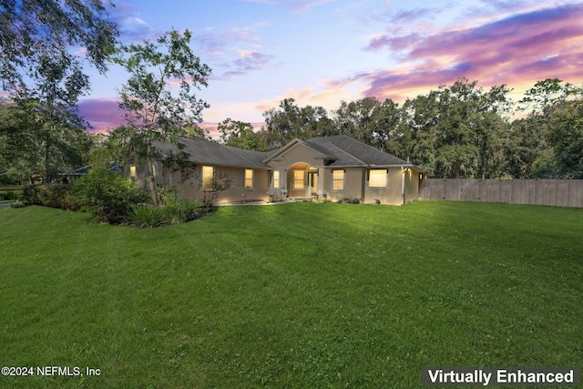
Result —
<svg viewBox="0 0 583 389"><path fill-rule="evenodd" d="M154 140L175 141L188 128L202 121L201 112L208 104L195 96L193 89L207 86L210 67L200 63L189 47L191 34L172 30L155 43L121 46L114 62L129 73L121 88L121 107L138 158L147 164L146 185L152 202L158 204L153 175L154 160L160 157ZM172 85L178 85L173 94Z"/></svg>

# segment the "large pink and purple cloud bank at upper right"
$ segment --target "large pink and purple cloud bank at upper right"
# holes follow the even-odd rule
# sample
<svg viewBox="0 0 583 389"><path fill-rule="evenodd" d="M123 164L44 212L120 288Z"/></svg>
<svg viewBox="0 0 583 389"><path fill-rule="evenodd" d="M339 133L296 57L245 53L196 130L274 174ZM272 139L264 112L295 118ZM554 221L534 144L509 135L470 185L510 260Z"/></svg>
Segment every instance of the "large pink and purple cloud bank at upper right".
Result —
<svg viewBox="0 0 583 389"><path fill-rule="evenodd" d="M582 82L582 22L583 5L562 5L427 36L375 36L367 49L400 50L402 65L343 82L364 84L363 94L377 98L414 97L459 77L509 87L547 77Z"/></svg>

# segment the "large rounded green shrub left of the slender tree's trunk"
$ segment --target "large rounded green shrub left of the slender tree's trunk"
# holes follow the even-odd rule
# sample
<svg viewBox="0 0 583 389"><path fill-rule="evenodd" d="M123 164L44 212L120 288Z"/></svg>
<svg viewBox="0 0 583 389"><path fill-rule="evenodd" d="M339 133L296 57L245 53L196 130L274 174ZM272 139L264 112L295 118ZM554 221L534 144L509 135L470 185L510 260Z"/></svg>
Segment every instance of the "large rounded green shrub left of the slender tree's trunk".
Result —
<svg viewBox="0 0 583 389"><path fill-rule="evenodd" d="M92 169L77 179L72 194L82 210L110 224L127 223L132 207L148 200L133 181L105 168Z"/></svg>

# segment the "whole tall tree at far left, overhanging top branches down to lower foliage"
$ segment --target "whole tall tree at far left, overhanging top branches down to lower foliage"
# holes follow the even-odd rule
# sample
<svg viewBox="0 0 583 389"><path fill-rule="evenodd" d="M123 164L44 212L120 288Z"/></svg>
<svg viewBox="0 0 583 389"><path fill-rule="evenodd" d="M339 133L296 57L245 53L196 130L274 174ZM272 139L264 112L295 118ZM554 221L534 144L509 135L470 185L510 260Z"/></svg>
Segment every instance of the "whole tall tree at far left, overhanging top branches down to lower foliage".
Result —
<svg viewBox="0 0 583 389"><path fill-rule="evenodd" d="M35 150L30 159L15 163L18 169L30 169L42 154L42 176L50 183L56 168L76 154L70 148L87 140L87 123L78 117L76 105L89 80L73 50L81 47L87 60L105 72L118 31L101 0L1 0L0 9L0 78L19 111L28 115L26 125L19 121L21 131L12 133L11 142ZM27 174L32 179L32 170Z"/></svg>

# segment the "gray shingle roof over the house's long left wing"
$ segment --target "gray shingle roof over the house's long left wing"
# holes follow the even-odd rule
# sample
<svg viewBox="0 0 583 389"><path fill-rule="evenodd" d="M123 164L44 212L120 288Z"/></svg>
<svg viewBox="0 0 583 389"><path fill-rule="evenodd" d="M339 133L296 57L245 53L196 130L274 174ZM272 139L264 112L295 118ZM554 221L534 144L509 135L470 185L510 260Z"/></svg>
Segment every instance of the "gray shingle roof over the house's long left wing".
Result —
<svg viewBox="0 0 583 389"><path fill-rule="evenodd" d="M231 148L208 140L176 137L185 147L183 151L189 153L190 160L199 164L209 164L216 166L236 166L240 168L271 169L263 163L269 153L260 151L244 150L242 148ZM175 152L176 145L167 142L154 142L155 146L163 153L168 153L171 148Z"/></svg>

